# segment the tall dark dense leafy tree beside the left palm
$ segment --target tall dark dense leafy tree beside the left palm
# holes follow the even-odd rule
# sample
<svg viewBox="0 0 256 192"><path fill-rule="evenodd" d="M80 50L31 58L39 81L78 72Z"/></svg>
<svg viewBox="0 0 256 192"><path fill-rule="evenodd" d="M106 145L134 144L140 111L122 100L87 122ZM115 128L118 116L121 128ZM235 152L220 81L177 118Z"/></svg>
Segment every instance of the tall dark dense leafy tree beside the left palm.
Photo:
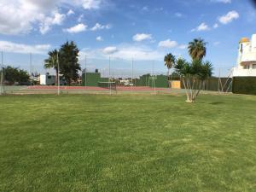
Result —
<svg viewBox="0 0 256 192"><path fill-rule="evenodd" d="M79 49L73 41L61 45L59 51L60 73L67 80L67 84L79 79Z"/></svg>

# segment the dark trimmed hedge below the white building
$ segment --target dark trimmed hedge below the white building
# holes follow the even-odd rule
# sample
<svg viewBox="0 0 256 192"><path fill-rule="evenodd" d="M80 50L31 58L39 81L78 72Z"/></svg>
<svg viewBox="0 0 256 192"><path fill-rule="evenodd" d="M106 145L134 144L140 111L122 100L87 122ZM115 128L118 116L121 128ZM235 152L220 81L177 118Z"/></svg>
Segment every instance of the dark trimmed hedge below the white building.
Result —
<svg viewBox="0 0 256 192"><path fill-rule="evenodd" d="M234 77L232 92L256 95L256 77Z"/></svg>

